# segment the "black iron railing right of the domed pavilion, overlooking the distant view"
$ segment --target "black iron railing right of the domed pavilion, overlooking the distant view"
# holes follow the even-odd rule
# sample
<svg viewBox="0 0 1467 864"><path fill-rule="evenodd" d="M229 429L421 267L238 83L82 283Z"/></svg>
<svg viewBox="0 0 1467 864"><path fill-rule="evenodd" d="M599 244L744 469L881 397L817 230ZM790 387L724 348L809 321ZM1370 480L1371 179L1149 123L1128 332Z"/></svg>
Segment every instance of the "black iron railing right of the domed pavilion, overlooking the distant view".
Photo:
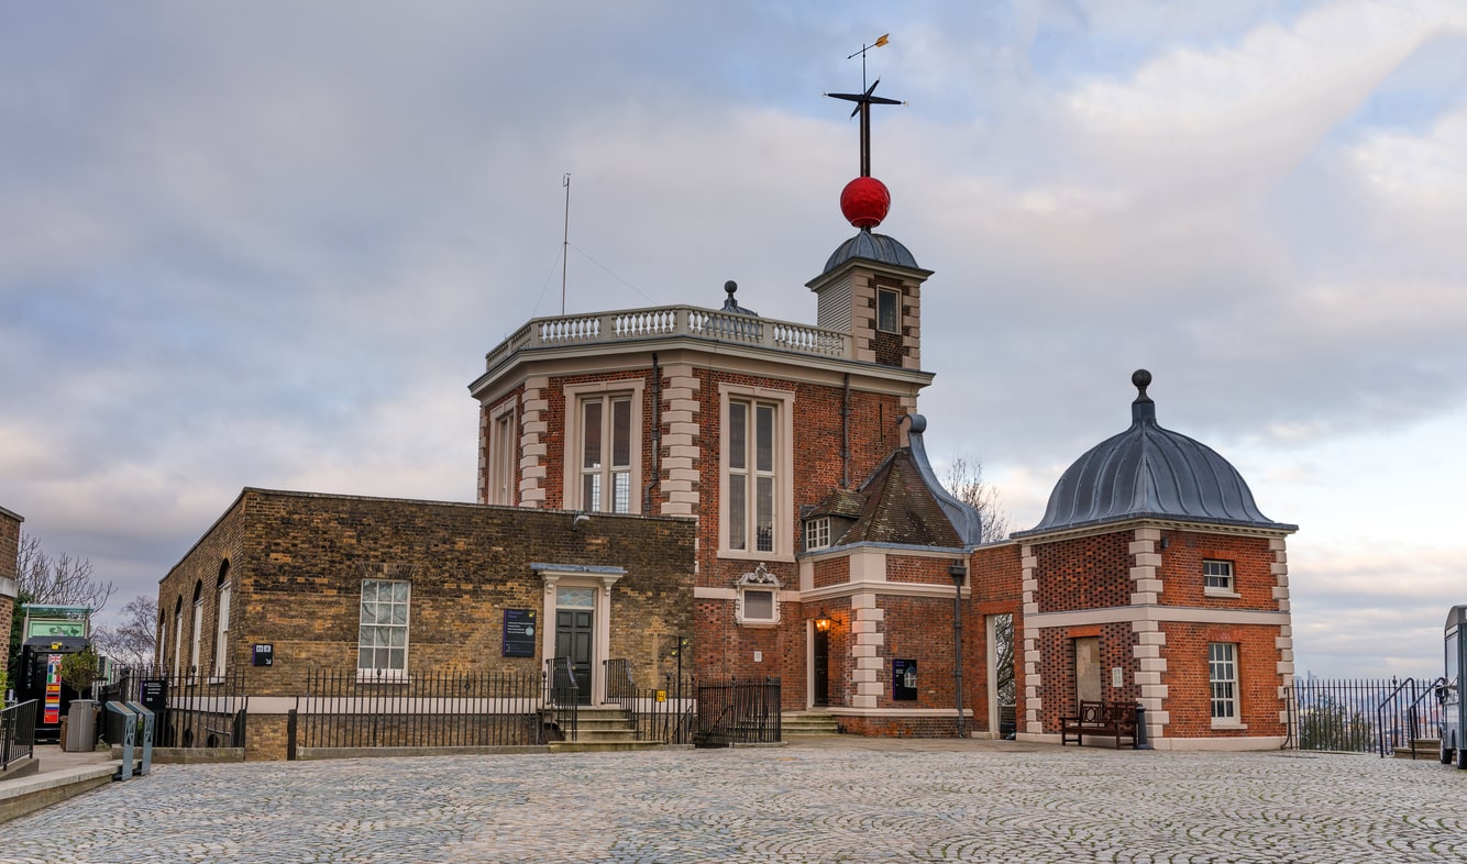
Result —
<svg viewBox="0 0 1467 864"><path fill-rule="evenodd" d="M1439 738L1439 681L1297 678L1288 692L1289 742L1297 750L1383 757L1416 739Z"/></svg>

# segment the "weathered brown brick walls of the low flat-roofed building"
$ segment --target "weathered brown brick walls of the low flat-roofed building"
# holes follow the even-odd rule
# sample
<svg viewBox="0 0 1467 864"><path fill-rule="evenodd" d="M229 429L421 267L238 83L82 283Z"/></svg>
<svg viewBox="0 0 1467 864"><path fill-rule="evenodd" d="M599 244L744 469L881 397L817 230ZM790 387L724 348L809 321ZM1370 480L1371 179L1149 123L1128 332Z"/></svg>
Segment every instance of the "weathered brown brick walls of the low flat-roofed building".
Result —
<svg viewBox="0 0 1467 864"><path fill-rule="evenodd" d="M502 657L503 610L543 607L531 562L626 569L612 588L610 656L632 660L638 684L669 672L678 635L692 632L694 525L688 519L599 515L571 531L571 513L246 490L160 584L172 667L173 610L185 642L192 591L202 585L201 666L213 669L214 582L229 560L230 667L246 688L292 695L308 667L355 669L364 578L412 582L408 666L445 672L538 673L543 657ZM249 667L254 642L271 667ZM185 654L185 665L188 654Z"/></svg>

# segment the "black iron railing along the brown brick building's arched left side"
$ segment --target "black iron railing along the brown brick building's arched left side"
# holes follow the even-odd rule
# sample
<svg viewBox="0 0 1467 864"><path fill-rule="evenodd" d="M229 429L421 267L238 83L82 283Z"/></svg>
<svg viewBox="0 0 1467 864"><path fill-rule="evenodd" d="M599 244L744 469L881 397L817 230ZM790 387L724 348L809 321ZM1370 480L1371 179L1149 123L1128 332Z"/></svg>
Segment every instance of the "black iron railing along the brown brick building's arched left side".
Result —
<svg viewBox="0 0 1467 864"><path fill-rule="evenodd" d="M98 689L100 701L138 701L154 713L154 747L244 747L249 695L244 675L173 673L157 666L122 667ZM103 738L122 741L122 714L103 714Z"/></svg>

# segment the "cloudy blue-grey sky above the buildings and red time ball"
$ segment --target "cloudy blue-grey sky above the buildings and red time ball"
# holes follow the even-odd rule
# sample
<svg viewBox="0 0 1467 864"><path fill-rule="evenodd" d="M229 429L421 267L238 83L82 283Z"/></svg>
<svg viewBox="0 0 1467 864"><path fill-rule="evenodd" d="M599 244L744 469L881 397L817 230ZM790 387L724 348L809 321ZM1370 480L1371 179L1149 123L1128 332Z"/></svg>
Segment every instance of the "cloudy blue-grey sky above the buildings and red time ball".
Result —
<svg viewBox="0 0 1467 864"><path fill-rule="evenodd" d="M1300 672L1467 603L1467 4L10 3L0 506L120 587L241 487L472 500L483 356L566 310L814 321L876 37L936 458L1015 528L1130 422L1291 538Z"/></svg>

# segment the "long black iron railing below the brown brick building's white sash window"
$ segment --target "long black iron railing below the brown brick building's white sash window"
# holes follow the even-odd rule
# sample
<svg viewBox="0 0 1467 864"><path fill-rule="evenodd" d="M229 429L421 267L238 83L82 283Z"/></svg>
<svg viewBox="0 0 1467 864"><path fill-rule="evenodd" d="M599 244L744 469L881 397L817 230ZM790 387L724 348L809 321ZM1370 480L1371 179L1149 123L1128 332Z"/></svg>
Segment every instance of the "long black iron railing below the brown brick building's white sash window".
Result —
<svg viewBox="0 0 1467 864"><path fill-rule="evenodd" d="M544 742L543 681L524 673L412 672L390 679L311 669L289 741L308 748L512 747Z"/></svg>

